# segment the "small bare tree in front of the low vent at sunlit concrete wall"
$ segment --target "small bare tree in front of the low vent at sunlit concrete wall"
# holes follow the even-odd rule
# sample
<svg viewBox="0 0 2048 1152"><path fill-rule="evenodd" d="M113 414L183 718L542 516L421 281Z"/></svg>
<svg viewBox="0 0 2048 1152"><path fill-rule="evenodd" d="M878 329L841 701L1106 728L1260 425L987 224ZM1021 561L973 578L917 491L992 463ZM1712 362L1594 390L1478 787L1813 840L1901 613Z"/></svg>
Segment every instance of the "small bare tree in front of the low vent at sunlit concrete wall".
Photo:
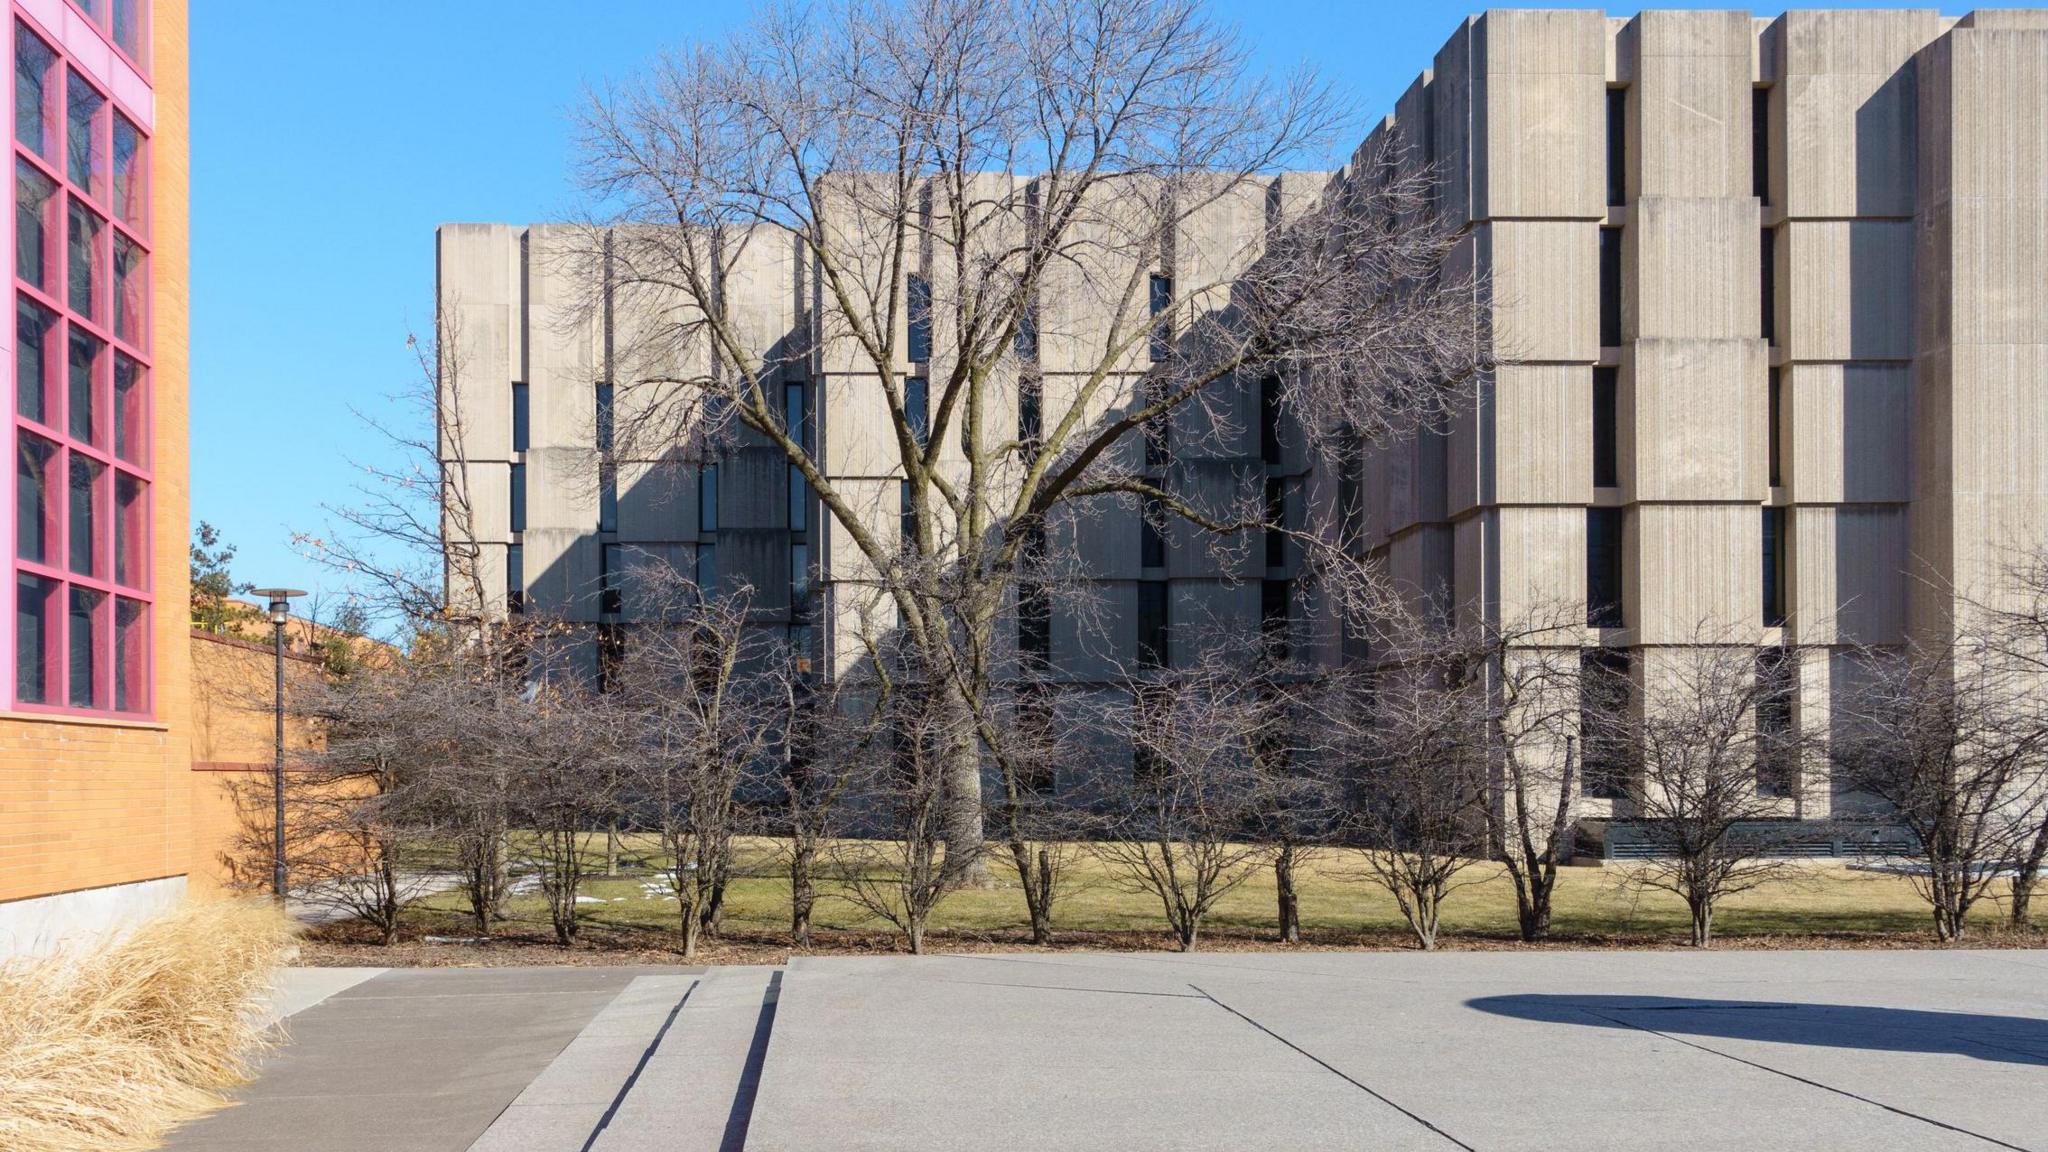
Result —
<svg viewBox="0 0 2048 1152"><path fill-rule="evenodd" d="M1802 875L1782 838L1794 799L1774 783L1806 744L1774 711L1792 666L1769 650L1716 640L1702 627L1690 646L1649 650L1638 685L1608 685L1634 699L1587 711L1593 730L1581 732L1589 746L1626 748L1634 758L1626 810L1649 855L1620 879L1683 900L1694 947L1712 945L1724 898Z"/></svg>

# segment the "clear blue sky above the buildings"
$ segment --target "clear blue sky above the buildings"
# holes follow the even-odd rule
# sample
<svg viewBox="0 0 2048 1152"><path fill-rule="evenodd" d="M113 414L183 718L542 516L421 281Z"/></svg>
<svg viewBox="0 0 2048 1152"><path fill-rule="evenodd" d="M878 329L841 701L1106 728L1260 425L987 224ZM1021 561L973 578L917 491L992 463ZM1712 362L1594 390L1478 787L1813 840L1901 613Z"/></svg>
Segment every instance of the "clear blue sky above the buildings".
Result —
<svg viewBox="0 0 2048 1152"><path fill-rule="evenodd" d="M1724 6L1667 0L1665 6ZM1219 0L1272 68L1393 107L1477 4ZM428 328L434 225L569 209L569 109L659 47L719 37L729 0L193 4L193 521L236 576L332 599L293 551L350 502ZM1628 12L1634 8L1614 8ZM1757 6L1772 14L1780 6ZM1944 4L1960 12L1966 6ZM1350 152L1350 146L1343 148Z"/></svg>

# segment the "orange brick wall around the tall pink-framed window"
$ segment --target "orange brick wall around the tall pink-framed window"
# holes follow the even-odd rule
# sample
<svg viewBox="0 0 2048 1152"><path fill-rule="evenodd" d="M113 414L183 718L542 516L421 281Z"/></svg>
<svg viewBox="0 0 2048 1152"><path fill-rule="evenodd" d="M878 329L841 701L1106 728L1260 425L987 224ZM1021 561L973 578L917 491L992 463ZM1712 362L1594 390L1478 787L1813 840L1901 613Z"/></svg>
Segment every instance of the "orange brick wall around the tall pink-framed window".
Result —
<svg viewBox="0 0 2048 1152"><path fill-rule="evenodd" d="M0 713L0 902L184 875L193 859L188 23L184 0L152 12L156 724Z"/></svg>

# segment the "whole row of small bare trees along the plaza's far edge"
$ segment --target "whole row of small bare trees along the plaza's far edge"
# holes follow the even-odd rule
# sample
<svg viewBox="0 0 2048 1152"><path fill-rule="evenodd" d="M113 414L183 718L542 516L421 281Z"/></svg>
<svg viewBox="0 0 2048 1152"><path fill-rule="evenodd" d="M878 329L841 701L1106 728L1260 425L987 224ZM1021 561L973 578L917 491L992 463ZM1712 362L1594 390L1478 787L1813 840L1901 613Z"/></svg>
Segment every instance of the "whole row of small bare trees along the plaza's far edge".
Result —
<svg viewBox="0 0 2048 1152"><path fill-rule="evenodd" d="M1475 865L1501 861L1534 941L1589 787L1622 797L1614 814L1645 847L1612 875L1683 900L1696 945L1729 896L1802 875L1798 842L1896 826L1942 939L1987 898L2025 927L2048 842L2048 728L2019 619L1991 640L1851 654L1821 734L1790 711L1796 654L1708 635L1624 674L1546 644L1563 623L1384 615L1356 668L1219 646L1116 693L1020 685L973 717L883 642L838 676L799 672L780 631L750 623L745 592L670 578L639 599L657 607L596 676L571 668L588 637L526 625L487 656L422 640L330 678L305 701L328 740L299 773L297 824L373 867L295 875L385 939L436 869L457 871L479 931L526 883L571 943L592 845L608 840L610 867L625 828L653 840L694 955L719 931L737 840L764 836L799 947L829 892L924 951L969 877L946 845L958 726L985 740L989 775L1012 763L1018 783L985 799L1004 830L989 863L1014 871L1034 943L1051 943L1083 853L1157 902L1182 949L1266 869L1278 933L1300 939L1296 877L1313 863L1384 890L1430 949L1446 902L1491 875ZM1802 810L1819 779L1833 820Z"/></svg>

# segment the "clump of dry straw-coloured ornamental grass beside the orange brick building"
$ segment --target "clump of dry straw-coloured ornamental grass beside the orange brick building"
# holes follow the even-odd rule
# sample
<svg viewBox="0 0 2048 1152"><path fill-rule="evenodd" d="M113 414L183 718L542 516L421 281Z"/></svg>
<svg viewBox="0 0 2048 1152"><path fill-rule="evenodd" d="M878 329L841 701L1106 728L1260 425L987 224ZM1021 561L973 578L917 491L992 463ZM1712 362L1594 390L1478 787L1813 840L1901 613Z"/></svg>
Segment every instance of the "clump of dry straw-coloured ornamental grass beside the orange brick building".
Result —
<svg viewBox="0 0 2048 1152"><path fill-rule="evenodd" d="M190 904L111 945L0 968L0 1148L154 1148L223 1103L291 945L272 906Z"/></svg>

